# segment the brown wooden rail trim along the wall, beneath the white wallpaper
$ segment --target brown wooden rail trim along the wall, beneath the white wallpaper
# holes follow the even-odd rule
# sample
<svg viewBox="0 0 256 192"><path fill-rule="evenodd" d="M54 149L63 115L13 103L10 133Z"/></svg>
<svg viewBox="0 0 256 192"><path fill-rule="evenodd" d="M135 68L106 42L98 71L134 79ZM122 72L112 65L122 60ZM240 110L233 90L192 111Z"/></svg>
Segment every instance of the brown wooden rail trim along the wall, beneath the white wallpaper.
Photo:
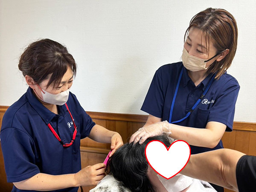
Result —
<svg viewBox="0 0 256 192"><path fill-rule="evenodd" d="M5 113L9 106L1 106L0 112ZM148 119L147 115L136 115L136 114L124 114L124 113L102 113L87 111L93 119L103 120L115 120L115 121L128 121L128 122L146 122ZM256 131L256 122L234 122L234 130L241 131Z"/></svg>

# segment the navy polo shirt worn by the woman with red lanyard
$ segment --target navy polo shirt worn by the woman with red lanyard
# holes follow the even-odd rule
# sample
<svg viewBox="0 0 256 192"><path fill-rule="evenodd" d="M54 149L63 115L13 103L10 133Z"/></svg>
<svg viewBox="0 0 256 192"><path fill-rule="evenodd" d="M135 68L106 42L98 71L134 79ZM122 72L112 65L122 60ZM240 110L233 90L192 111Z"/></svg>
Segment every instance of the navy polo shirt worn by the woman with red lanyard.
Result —
<svg viewBox="0 0 256 192"><path fill-rule="evenodd" d="M65 105L57 105L59 114L52 113L34 96L29 87L3 116L1 146L7 181L18 182L38 173L62 175L81 170L80 139L87 137L95 125L73 93L67 101L78 128L70 147L63 147L52 134L48 123L64 143L70 143L74 125ZM57 190L77 192L78 187ZM23 192L15 186L13 192ZM31 191L29 191L31 192Z"/></svg>

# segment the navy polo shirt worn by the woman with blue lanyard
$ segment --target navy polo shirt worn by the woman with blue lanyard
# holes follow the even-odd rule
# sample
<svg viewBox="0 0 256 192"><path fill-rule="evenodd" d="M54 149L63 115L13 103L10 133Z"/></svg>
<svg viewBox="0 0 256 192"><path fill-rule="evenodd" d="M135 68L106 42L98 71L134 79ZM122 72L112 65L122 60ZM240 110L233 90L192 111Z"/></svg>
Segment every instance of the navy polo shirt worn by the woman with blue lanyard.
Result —
<svg viewBox="0 0 256 192"><path fill-rule="evenodd" d="M181 70L183 70L183 76L175 99L172 122L186 116L186 113L189 112L204 92L209 80L212 78L212 74L209 74L195 87L182 62L163 65L156 71L141 108L142 111L162 118L163 121L169 121L172 98ZM190 116L175 124L193 128L205 128L207 122L215 121L227 125L226 131L232 131L239 88L240 86L236 79L224 73L219 80L212 82L207 94ZM191 154L197 154L223 148L223 145L220 141L215 148L193 145L190 145L190 147Z"/></svg>

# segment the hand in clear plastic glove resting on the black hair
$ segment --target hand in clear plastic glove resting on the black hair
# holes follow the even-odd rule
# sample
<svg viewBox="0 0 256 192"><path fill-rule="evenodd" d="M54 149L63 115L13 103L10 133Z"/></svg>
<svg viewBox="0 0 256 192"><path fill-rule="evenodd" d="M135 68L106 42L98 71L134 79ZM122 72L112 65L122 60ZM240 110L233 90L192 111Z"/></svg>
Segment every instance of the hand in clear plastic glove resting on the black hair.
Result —
<svg viewBox="0 0 256 192"><path fill-rule="evenodd" d="M129 143L134 141L134 144L140 141L139 143L142 144L148 137L153 137L157 135L169 135L171 134L171 125L168 121L161 121L154 123L152 125L148 125L146 127L140 128L136 131L129 141Z"/></svg>

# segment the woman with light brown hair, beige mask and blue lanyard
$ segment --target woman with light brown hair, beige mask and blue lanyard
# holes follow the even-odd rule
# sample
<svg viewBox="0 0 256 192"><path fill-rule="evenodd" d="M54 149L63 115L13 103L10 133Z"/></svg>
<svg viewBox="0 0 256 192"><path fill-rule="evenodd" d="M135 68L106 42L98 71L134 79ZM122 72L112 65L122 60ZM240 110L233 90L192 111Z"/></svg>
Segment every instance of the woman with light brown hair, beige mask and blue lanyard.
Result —
<svg viewBox="0 0 256 192"><path fill-rule="evenodd" d="M223 148L221 138L232 131L240 88L227 74L237 36L236 20L224 9L208 8L192 17L182 62L156 71L141 108L149 113L147 122L130 142L166 134L188 142L192 154Z"/></svg>

